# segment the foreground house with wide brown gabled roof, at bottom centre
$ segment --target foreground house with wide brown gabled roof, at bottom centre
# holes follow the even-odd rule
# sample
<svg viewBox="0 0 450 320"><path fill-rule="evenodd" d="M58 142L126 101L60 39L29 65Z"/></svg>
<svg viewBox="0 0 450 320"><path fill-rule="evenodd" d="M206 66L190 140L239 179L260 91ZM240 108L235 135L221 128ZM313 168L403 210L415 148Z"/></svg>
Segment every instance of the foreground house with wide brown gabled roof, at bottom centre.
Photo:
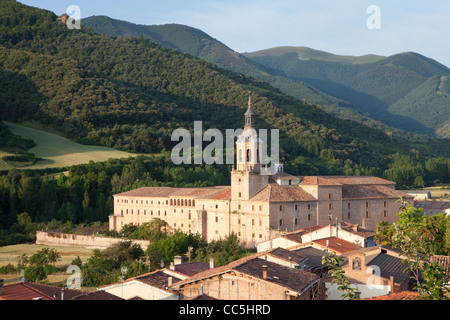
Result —
<svg viewBox="0 0 450 320"><path fill-rule="evenodd" d="M279 264L279 261L273 262L269 258L271 254L284 255L274 251L253 254L201 272L173 284L171 288L177 290L183 300L202 295L223 300L323 299L319 276L293 265L289 267ZM289 259L286 262L289 263Z"/></svg>

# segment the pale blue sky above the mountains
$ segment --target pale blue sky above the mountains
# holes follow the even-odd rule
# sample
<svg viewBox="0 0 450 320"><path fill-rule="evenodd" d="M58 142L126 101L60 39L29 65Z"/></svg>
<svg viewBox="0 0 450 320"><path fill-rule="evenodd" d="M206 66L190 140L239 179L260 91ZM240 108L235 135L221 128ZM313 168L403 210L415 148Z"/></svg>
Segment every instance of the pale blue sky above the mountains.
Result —
<svg viewBox="0 0 450 320"><path fill-rule="evenodd" d="M447 0L19 0L60 15L106 15L145 25L198 28L244 53L304 46L340 55L413 51L450 67ZM68 12L69 13L69 12Z"/></svg>

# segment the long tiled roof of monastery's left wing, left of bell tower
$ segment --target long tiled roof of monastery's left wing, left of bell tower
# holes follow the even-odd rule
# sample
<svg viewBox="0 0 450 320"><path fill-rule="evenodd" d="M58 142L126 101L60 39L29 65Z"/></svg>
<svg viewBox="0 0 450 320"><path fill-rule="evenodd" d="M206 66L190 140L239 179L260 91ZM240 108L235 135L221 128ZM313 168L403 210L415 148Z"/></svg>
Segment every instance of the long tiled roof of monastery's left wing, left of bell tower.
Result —
<svg viewBox="0 0 450 320"><path fill-rule="evenodd" d="M153 197L153 198L167 198L167 197L191 197L195 199L224 199L231 198L231 187L204 187L204 188L170 188L170 187L144 187L123 193L115 196L126 197Z"/></svg>

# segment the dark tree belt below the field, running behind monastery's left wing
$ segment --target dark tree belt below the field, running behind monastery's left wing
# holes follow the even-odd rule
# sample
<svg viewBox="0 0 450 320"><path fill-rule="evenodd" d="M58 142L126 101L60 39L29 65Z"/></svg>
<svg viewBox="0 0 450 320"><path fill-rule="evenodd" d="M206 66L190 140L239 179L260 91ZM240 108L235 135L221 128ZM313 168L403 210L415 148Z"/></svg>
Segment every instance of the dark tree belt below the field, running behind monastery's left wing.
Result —
<svg viewBox="0 0 450 320"><path fill-rule="evenodd" d="M114 193L143 186L230 184L226 166L175 166L165 156L91 162L69 168L66 175L47 171L0 175L0 245L33 240L36 228L107 223ZM24 217L34 223L34 230L25 230L20 222L27 220Z"/></svg>

